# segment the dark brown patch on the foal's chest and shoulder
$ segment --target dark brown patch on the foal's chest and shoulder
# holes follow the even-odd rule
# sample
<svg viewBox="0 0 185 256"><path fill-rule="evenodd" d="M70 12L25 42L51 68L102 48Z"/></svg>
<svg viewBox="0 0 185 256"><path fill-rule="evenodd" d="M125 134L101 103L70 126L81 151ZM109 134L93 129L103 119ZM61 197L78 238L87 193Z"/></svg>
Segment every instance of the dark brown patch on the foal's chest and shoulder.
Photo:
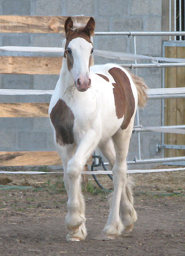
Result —
<svg viewBox="0 0 185 256"><path fill-rule="evenodd" d="M74 143L74 114L66 103L59 99L50 113L56 131L56 142L63 146Z"/></svg>

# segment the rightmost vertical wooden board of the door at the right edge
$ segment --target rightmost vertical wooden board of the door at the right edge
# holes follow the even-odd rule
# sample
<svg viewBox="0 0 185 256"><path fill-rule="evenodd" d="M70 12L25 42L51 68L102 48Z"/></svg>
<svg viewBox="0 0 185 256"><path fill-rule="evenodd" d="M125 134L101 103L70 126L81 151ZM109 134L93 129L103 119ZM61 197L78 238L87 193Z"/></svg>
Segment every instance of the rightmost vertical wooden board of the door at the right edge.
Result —
<svg viewBox="0 0 185 256"><path fill-rule="evenodd" d="M177 47L177 58L185 58L185 47ZM185 67L179 67L177 69L177 86L184 87L185 85ZM185 124L185 99L177 99L177 125ZM183 134L177 134L177 145L185 145L185 136ZM176 150L176 156L185 156L185 150Z"/></svg>

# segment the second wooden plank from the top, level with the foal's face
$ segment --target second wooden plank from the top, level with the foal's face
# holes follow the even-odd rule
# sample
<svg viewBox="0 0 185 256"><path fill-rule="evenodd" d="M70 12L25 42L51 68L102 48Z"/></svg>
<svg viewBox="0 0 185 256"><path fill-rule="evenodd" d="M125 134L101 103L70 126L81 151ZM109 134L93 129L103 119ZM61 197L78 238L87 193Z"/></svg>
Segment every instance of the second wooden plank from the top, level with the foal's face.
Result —
<svg viewBox="0 0 185 256"><path fill-rule="evenodd" d="M0 74L58 75L62 57L0 57Z"/></svg>

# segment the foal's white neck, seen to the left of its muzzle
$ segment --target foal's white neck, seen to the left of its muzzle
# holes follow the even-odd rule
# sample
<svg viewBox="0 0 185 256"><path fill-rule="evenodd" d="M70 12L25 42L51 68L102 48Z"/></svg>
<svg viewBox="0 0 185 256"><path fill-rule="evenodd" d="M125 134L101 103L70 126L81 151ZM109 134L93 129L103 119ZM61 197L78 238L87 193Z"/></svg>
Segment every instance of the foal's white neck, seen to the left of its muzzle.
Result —
<svg viewBox="0 0 185 256"><path fill-rule="evenodd" d="M67 60L63 58L62 69L60 72L60 91L62 93L67 92L68 88L74 85L74 78L68 71Z"/></svg>

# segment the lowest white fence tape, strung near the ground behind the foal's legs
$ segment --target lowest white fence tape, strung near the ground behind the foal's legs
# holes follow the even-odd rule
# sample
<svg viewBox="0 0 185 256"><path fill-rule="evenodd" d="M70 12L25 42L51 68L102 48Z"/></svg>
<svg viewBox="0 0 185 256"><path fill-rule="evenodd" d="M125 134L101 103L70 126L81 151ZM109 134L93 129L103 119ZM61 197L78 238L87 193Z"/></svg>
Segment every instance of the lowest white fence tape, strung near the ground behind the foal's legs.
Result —
<svg viewBox="0 0 185 256"><path fill-rule="evenodd" d="M185 171L185 168L170 168L170 169L154 169L154 170L128 170L127 173L148 173L148 172L163 172L163 171ZM62 174L63 171L0 171L4 174ZM81 174L112 174L112 171L82 171Z"/></svg>

